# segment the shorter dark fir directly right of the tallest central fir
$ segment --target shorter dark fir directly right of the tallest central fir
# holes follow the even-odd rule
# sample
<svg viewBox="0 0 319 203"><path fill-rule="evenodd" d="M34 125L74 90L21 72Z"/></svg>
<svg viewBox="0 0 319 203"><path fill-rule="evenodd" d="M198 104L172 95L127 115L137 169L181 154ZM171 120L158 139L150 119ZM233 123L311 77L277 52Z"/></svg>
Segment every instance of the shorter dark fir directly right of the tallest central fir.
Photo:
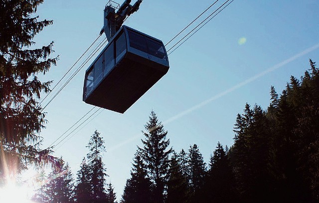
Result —
<svg viewBox="0 0 319 203"><path fill-rule="evenodd" d="M188 203L189 200L188 180L177 159L177 154L173 153L169 165L166 203Z"/></svg>

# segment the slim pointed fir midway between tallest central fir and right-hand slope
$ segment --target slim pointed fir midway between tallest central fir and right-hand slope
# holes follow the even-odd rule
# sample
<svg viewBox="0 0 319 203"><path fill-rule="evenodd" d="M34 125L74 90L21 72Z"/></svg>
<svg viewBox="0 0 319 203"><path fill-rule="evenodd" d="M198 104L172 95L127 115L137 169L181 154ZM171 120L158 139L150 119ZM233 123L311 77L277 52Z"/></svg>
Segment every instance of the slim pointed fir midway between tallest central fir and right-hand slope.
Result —
<svg viewBox="0 0 319 203"><path fill-rule="evenodd" d="M198 146L194 144L188 150L190 184L191 184L191 203L203 201L204 178L206 174L206 164Z"/></svg>

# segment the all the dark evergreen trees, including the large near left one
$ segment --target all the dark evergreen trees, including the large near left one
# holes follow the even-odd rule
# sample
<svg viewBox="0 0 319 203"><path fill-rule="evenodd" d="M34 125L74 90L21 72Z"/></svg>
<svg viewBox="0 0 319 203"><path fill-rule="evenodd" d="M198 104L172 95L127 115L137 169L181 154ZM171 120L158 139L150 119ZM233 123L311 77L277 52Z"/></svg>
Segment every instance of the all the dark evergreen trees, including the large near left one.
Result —
<svg viewBox="0 0 319 203"><path fill-rule="evenodd" d="M39 170L36 203L318 203L319 68L286 88L270 88L270 104L243 104L234 124L234 142L216 141L205 163L197 144L175 151L169 133L151 111L123 194L108 181L107 149L97 130L73 174L52 148L41 149L45 113L39 99L52 81L40 81L56 64L53 42L32 48L34 36L53 21L39 20L43 0L0 2L0 187L30 166Z"/></svg>

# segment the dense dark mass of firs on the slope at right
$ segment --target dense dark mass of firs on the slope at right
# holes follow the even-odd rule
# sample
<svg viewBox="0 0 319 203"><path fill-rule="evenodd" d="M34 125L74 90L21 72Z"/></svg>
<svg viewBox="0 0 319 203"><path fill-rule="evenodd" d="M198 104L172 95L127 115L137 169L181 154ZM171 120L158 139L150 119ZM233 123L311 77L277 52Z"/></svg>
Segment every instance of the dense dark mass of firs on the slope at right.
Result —
<svg viewBox="0 0 319 203"><path fill-rule="evenodd" d="M319 71L291 77L264 112L246 104L237 116L230 160L241 202L318 202Z"/></svg>

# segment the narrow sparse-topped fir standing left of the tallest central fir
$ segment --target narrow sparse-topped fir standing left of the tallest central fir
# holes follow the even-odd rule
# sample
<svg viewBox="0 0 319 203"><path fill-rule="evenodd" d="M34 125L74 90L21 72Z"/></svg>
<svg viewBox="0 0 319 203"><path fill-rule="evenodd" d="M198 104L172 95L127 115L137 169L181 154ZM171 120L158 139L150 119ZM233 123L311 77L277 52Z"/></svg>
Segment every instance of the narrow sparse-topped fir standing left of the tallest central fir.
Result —
<svg viewBox="0 0 319 203"><path fill-rule="evenodd" d="M102 162L102 153L105 152L104 140L98 131L95 131L91 136L89 145L87 146L90 152L87 154L89 183L91 188L91 203L104 203L107 200L105 191L107 176Z"/></svg>

